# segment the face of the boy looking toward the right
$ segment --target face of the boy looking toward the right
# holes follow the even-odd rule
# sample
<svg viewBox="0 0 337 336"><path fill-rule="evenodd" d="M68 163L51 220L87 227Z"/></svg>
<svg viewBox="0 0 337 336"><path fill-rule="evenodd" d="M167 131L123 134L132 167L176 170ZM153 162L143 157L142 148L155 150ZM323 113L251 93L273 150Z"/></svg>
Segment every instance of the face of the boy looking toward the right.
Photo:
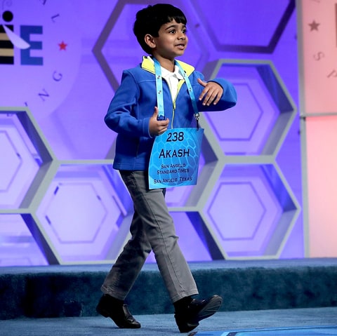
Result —
<svg viewBox="0 0 337 336"><path fill-rule="evenodd" d="M176 20L165 23L159 29L159 36L153 37L155 47L154 56L173 60L177 56L183 55L187 47L188 38L186 26L177 23Z"/></svg>

